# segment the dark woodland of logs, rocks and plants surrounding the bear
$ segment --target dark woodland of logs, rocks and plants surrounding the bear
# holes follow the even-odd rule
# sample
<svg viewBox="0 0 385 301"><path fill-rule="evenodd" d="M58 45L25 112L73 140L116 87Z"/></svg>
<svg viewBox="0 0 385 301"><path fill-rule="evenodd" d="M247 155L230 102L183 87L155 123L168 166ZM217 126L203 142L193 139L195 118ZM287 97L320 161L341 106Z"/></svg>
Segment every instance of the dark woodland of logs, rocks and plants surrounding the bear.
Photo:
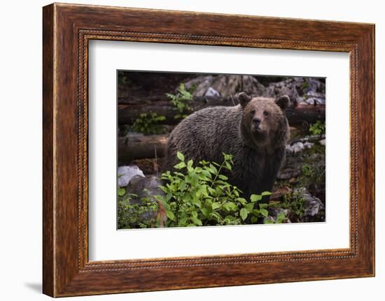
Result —
<svg viewBox="0 0 385 301"><path fill-rule="evenodd" d="M162 175L169 133L197 110L238 105L234 96L241 91L250 96L290 97L285 112L290 126L286 160L272 191L266 193L269 200L258 207L255 204L263 196L255 196L250 207L251 201L240 200L237 189L230 187L227 200L216 195L209 211L202 203L186 205L187 213L178 218L164 199L155 197L172 193L165 181L180 186L189 176ZM231 154L207 172L216 177L226 162L231 167ZM194 162L193 168L205 168L198 165ZM206 179L200 181L207 184ZM214 182L208 184L212 187ZM191 196L192 202L195 197ZM181 198L186 203L190 195ZM325 221L325 79L118 71L118 228L314 221Z"/></svg>

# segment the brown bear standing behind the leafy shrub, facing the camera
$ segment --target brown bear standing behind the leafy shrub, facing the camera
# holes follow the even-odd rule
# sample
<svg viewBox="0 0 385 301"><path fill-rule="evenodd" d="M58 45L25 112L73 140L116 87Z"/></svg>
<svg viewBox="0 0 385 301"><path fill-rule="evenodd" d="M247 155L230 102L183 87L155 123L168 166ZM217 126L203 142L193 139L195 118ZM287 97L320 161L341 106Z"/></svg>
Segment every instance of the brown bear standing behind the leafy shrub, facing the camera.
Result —
<svg viewBox="0 0 385 301"><path fill-rule="evenodd" d="M289 126L284 114L290 99L251 98L237 94L239 105L216 106L194 112L176 126L169 136L163 170L173 170L176 152L186 159L223 162L232 154L234 167L228 182L251 194L272 191L285 158Z"/></svg>

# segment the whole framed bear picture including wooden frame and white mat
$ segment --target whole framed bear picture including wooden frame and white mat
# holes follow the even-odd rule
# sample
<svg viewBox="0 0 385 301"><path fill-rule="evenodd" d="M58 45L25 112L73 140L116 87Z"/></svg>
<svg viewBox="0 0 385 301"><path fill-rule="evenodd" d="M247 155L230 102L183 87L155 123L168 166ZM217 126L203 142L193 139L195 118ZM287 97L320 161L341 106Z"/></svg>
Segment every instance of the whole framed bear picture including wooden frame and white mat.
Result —
<svg viewBox="0 0 385 301"><path fill-rule="evenodd" d="M373 276L373 24L43 8L43 293Z"/></svg>

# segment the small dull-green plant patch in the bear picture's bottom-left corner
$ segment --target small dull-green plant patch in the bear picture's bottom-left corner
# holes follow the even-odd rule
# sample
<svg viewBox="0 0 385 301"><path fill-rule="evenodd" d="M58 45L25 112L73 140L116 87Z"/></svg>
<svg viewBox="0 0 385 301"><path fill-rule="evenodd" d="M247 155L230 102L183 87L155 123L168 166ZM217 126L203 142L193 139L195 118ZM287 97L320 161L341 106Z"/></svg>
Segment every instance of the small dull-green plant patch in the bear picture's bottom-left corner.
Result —
<svg viewBox="0 0 385 301"><path fill-rule="evenodd" d="M134 193L118 187L118 229L152 228L158 225L158 202L147 192L138 200Z"/></svg>

